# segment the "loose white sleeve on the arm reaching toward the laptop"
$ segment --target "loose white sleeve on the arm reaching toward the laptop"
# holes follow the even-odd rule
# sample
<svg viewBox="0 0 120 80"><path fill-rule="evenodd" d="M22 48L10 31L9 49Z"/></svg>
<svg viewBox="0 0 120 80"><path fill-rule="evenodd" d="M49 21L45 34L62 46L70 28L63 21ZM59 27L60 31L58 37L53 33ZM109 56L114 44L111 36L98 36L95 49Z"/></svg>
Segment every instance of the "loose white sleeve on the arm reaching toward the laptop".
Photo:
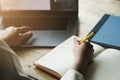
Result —
<svg viewBox="0 0 120 80"><path fill-rule="evenodd" d="M3 40L0 40L0 58L3 59L4 61L4 63L0 63L0 65L5 64L7 65L5 66L5 69L8 69L10 73L14 72L13 74L8 74L8 75L6 74L5 77L8 77L9 75L13 75L14 77L14 75L17 74L20 78L29 78L23 72L16 53ZM12 76L10 78L12 78ZM29 79L29 80L32 80L32 79Z"/></svg>

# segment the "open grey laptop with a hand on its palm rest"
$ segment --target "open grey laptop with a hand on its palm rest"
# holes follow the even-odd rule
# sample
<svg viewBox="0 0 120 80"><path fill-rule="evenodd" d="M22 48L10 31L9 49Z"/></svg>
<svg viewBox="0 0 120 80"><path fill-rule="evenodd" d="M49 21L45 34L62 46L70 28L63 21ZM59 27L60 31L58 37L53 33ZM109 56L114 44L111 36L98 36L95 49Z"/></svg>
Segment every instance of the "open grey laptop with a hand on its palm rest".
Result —
<svg viewBox="0 0 120 80"><path fill-rule="evenodd" d="M1 30L30 26L23 47L54 47L77 34L78 0L1 0Z"/></svg>

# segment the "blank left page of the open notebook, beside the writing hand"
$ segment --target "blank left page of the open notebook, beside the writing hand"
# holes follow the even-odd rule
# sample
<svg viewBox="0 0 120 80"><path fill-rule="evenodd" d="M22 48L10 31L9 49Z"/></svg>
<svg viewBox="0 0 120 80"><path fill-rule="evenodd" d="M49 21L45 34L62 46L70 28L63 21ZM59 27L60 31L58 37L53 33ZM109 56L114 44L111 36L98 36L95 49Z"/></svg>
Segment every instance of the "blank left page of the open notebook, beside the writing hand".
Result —
<svg viewBox="0 0 120 80"><path fill-rule="evenodd" d="M36 63L64 75L74 63L73 37L54 48Z"/></svg>

